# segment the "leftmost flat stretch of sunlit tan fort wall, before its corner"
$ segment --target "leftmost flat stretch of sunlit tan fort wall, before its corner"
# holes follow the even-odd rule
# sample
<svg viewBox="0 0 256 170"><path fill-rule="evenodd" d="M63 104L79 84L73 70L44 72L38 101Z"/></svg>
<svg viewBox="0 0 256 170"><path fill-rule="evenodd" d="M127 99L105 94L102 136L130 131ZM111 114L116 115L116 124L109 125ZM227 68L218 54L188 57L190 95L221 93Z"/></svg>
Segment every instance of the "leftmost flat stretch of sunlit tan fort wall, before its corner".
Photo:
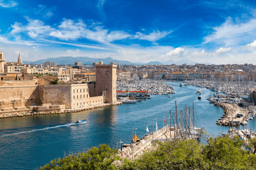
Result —
<svg viewBox="0 0 256 170"><path fill-rule="evenodd" d="M0 86L0 108L27 107L38 104L37 85Z"/></svg>

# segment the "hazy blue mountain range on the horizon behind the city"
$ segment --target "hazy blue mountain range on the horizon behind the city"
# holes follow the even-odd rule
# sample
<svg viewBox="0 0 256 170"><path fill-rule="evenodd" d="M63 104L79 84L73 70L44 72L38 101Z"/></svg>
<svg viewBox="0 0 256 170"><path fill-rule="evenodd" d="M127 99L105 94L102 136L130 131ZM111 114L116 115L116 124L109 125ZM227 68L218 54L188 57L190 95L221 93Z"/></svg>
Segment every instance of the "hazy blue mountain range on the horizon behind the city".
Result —
<svg viewBox="0 0 256 170"><path fill-rule="evenodd" d="M102 61L104 64L109 64L109 63L118 63L120 65L156 65L156 64L164 64L164 65L170 65L170 64L176 64L176 65L181 65L181 64L187 64L187 65L195 65L196 63L198 64L212 64L212 63L200 63L200 62L194 62L192 60L188 59L182 59L179 61L173 61L173 60L168 60L166 62L149 62L149 63L132 63L129 61L124 61L124 60L115 60L111 57L107 58L90 58L90 57L72 57L72 56L66 56L66 57L57 57L57 58L47 58L43 60L37 60L35 62L30 62L30 61L23 61L23 63L33 63L33 64L44 64L46 61L52 61L56 62L57 64L74 64L75 62L81 62L82 64L89 64L91 65L93 62L99 62Z"/></svg>

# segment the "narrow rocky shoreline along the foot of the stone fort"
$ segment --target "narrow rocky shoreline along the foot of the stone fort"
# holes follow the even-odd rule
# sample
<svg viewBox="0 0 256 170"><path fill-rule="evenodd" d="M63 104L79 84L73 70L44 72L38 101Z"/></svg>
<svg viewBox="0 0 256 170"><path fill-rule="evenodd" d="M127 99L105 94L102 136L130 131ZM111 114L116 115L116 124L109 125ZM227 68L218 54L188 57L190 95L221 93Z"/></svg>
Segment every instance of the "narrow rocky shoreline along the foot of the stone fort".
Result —
<svg viewBox="0 0 256 170"><path fill-rule="evenodd" d="M49 112L36 112L36 111L27 111L27 112L14 112L14 113L0 113L0 119L3 118L10 118L10 117L23 117L23 116L32 116L32 115L53 115L53 114L65 114L65 113L76 113L84 110L91 110L91 109L97 109L101 107L108 107L108 106L115 106L120 105L121 102L118 103L105 103L105 104L99 104L98 106L87 106L82 108L76 108L76 109L65 109L64 111L49 111Z"/></svg>

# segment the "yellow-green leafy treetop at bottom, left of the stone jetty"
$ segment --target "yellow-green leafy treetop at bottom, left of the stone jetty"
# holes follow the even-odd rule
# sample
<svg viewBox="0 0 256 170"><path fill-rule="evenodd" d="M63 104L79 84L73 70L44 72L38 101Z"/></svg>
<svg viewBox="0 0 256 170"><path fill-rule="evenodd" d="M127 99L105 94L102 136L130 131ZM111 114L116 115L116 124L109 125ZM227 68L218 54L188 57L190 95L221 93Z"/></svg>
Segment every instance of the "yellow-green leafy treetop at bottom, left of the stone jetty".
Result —
<svg viewBox="0 0 256 170"><path fill-rule="evenodd" d="M116 156L117 149L113 150L107 144L101 144L98 148L93 147L88 152L70 154L62 159L54 159L50 164L40 167L40 170L114 170L113 162L120 157Z"/></svg>

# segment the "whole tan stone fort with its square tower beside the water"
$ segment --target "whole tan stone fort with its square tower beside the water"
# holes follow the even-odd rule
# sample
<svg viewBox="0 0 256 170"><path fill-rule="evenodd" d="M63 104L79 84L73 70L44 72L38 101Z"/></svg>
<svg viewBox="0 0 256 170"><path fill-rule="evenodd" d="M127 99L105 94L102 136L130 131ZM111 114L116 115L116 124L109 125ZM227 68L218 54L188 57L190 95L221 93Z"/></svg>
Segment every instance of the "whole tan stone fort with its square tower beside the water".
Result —
<svg viewBox="0 0 256 170"><path fill-rule="evenodd" d="M3 53L0 53L0 70L3 69ZM116 65L96 65L95 84L37 85L35 80L0 80L0 109L30 106L61 105L65 108L80 108L103 103L116 103ZM20 109L21 110L21 109ZM0 114L1 114L0 111Z"/></svg>

